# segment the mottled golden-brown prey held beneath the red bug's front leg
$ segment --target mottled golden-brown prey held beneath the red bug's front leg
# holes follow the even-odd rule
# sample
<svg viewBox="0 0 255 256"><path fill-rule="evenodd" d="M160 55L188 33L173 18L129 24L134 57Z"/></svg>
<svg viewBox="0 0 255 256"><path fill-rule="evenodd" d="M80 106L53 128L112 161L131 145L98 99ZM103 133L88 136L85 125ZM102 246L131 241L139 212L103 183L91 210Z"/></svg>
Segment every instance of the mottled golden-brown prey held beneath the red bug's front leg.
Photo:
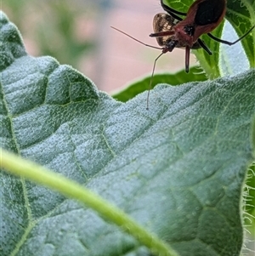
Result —
<svg viewBox="0 0 255 256"><path fill-rule="evenodd" d="M178 20L168 14L156 14L153 19L153 30L155 33L172 31L177 23ZM165 46L171 37L173 36L156 37L156 41L160 46Z"/></svg>

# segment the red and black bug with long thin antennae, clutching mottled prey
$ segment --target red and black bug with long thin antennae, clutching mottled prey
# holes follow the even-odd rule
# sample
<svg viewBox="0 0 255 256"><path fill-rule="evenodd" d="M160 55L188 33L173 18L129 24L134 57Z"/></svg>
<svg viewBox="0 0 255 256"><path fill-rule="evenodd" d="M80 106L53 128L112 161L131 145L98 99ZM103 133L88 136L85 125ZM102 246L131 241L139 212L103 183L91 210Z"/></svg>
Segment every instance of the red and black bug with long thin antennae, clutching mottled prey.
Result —
<svg viewBox="0 0 255 256"><path fill-rule="evenodd" d="M156 61L162 54L172 52L174 48L185 49L185 71L188 73L190 69L190 49L203 48L207 54L212 55L211 50L207 47L206 43L201 40L201 35L207 34L213 40L218 43L224 43L233 45L241 41L246 37L255 26L252 26L246 33L235 40L235 42L228 42L218 37L214 37L210 32L213 31L224 19L226 13L226 0L196 0L191 4L187 14L179 12L175 9L168 7L163 0L161 0L162 8L167 14L156 14L153 20L154 33L150 34L150 37L156 37L156 41L161 48L154 47L139 41L138 39L131 37L127 33L112 27L116 31L122 32L127 37L133 38L133 40L144 44L150 48L161 49L161 54L156 58L153 65L151 81L154 76L156 67ZM185 15L184 20L179 15ZM147 109L149 107L149 95L147 96Z"/></svg>

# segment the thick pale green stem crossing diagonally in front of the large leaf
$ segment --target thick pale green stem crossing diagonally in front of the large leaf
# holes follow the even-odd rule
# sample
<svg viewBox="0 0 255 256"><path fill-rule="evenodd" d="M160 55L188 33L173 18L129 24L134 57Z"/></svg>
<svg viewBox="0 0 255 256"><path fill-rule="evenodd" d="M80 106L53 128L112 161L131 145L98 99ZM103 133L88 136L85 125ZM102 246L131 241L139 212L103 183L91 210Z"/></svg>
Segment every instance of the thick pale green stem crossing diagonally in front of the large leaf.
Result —
<svg viewBox="0 0 255 256"><path fill-rule="evenodd" d="M160 256L178 256L178 253L173 251L165 242L162 242L159 237L145 230L143 226L131 219L121 209L116 208L116 206L77 182L66 179L60 174L51 172L47 168L22 159L20 156L15 156L1 148L0 167L8 170L11 174L48 186L54 191L59 191L67 197L86 204L103 216L104 219L110 220L128 234L134 236L142 245L148 247L152 253Z"/></svg>

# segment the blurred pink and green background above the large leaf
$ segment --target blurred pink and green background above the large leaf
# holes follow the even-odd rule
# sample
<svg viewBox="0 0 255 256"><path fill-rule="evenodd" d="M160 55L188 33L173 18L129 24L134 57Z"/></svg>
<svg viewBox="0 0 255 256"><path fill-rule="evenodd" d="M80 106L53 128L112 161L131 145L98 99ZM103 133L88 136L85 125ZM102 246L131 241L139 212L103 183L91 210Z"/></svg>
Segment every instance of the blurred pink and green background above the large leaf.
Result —
<svg viewBox="0 0 255 256"><path fill-rule="evenodd" d="M144 43L155 14L163 12L159 0L2 0L3 12L18 26L32 56L51 55L72 65L106 92L150 75L160 50L135 42L111 26ZM191 63L195 63L195 59ZM156 71L184 68L184 50L161 56Z"/></svg>

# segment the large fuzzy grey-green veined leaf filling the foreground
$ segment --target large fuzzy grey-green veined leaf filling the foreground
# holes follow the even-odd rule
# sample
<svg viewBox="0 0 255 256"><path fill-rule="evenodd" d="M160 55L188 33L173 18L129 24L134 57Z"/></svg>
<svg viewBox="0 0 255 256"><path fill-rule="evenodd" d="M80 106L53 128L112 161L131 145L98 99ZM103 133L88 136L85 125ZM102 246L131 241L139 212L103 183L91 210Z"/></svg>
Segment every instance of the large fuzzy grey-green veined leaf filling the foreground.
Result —
<svg viewBox="0 0 255 256"><path fill-rule="evenodd" d="M254 70L158 86L146 111L146 93L117 102L70 66L26 55L16 28L0 17L5 149L99 194L181 255L240 253L241 191L254 160ZM0 183L3 256L150 253L54 191L5 172Z"/></svg>

